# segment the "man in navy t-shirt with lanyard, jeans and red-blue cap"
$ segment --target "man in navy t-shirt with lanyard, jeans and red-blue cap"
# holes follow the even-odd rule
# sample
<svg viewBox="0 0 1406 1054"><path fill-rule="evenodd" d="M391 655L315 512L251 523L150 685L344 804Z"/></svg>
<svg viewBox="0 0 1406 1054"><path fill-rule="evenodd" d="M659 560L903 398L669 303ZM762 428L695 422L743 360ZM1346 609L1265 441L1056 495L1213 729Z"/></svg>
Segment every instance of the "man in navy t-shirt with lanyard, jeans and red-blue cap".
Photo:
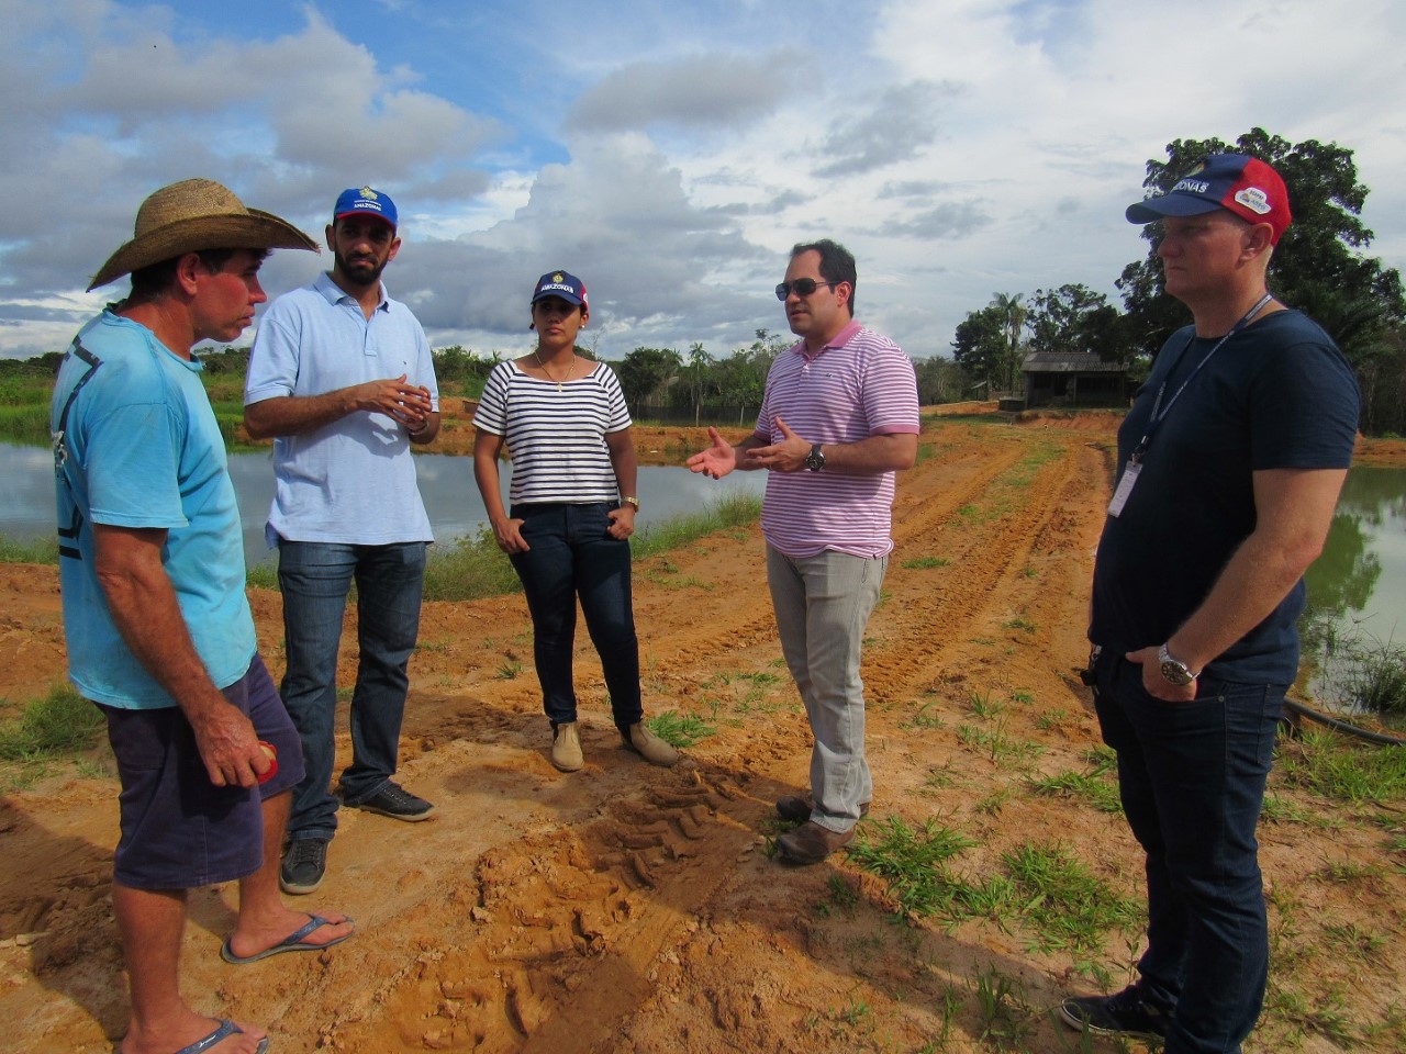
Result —
<svg viewBox="0 0 1406 1054"><path fill-rule="evenodd" d="M1147 853L1147 950L1136 984L1066 999L1062 1016L1164 1037L1167 1054L1239 1051L1268 974L1256 824L1358 392L1333 340L1268 292L1291 219L1272 167L1208 157L1128 219L1161 222L1166 289L1194 320L1118 431L1088 631L1099 725Z"/></svg>

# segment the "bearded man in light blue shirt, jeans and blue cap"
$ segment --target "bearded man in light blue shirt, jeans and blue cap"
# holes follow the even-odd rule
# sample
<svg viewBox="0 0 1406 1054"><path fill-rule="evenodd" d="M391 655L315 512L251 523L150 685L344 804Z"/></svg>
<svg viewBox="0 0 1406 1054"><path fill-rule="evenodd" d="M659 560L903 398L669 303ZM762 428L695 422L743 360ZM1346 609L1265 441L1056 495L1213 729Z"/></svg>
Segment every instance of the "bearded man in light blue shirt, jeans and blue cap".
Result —
<svg viewBox="0 0 1406 1054"><path fill-rule="evenodd" d="M344 191L326 238L332 271L270 305L245 386L249 434L274 437L277 490L266 534L278 548L283 590L281 694L307 767L280 871L292 894L322 883L337 826L336 669L353 580L360 655L342 801L404 821L434 811L391 779L433 540L411 444L439 434L434 365L420 323L381 284L401 249L389 195Z"/></svg>

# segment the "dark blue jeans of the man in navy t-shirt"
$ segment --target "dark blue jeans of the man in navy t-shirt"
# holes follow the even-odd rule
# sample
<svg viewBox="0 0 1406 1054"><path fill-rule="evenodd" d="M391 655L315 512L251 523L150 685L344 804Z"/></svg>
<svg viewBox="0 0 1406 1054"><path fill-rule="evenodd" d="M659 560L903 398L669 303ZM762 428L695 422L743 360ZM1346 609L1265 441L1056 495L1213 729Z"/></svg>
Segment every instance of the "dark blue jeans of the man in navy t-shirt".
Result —
<svg viewBox="0 0 1406 1054"><path fill-rule="evenodd" d="M1166 1054L1237 1054L1268 978L1256 825L1288 686L1202 677L1195 701L1167 703L1122 655L1099 656L1095 675L1123 812L1147 854L1139 991L1168 1015Z"/></svg>

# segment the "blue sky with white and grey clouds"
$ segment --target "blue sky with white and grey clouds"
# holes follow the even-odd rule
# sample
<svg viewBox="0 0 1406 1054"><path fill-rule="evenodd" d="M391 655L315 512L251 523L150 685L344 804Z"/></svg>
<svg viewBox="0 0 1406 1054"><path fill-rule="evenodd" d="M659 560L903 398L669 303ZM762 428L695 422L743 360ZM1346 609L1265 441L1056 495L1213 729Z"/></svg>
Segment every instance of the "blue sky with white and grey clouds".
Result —
<svg viewBox="0 0 1406 1054"><path fill-rule="evenodd" d="M62 350L141 201L190 176L321 238L388 191L385 273L434 347L531 346L564 267L582 343L725 356L785 332L789 247L858 257L914 357L995 292L1114 280L1173 139L1355 152L1369 252L1406 270L1400 0L0 0L0 357ZM276 253L276 295L326 254ZM247 336L246 336L247 340Z"/></svg>

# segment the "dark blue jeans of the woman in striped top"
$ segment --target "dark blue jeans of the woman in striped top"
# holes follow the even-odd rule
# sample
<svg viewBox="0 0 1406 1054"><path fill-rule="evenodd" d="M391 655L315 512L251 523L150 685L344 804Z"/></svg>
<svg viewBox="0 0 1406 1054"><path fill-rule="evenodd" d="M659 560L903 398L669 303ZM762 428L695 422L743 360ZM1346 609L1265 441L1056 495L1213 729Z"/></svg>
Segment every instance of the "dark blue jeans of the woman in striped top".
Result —
<svg viewBox="0 0 1406 1054"><path fill-rule="evenodd" d="M640 722L640 639L630 600L630 542L607 534L614 506L515 505L527 552L512 555L531 613L533 659L541 704L551 727L576 720L571 653L576 639L576 599L610 693L610 713L621 731Z"/></svg>

